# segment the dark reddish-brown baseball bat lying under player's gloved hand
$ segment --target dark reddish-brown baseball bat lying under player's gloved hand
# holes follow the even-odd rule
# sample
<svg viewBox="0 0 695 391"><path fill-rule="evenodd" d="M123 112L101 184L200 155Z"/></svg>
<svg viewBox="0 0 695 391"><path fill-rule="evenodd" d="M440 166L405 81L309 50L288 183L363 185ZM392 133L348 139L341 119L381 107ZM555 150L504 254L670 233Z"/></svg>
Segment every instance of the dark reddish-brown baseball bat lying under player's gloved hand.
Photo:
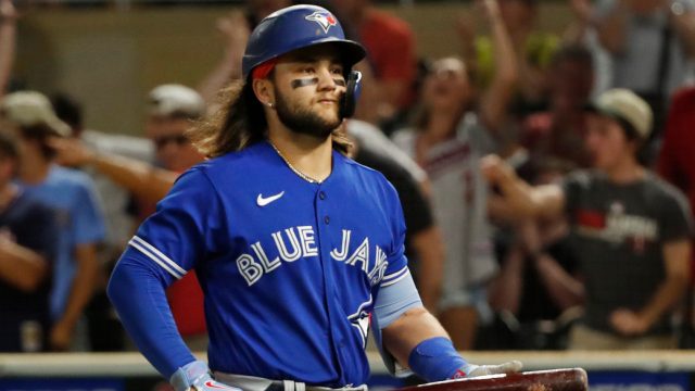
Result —
<svg viewBox="0 0 695 391"><path fill-rule="evenodd" d="M586 391L586 371L561 368L454 379L399 389L399 391Z"/></svg>

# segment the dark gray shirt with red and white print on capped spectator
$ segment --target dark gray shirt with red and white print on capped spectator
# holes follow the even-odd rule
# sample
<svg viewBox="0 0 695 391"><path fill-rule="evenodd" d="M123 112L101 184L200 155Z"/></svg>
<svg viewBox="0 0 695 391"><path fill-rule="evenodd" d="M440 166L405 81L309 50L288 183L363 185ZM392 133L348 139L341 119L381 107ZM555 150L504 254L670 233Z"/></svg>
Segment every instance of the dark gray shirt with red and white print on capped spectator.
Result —
<svg viewBox="0 0 695 391"><path fill-rule="evenodd" d="M563 188L585 281L584 323L612 332L612 311L640 311L664 282L664 245L691 237L687 201L652 174L618 185L599 172L576 172ZM664 317L649 333L668 331Z"/></svg>

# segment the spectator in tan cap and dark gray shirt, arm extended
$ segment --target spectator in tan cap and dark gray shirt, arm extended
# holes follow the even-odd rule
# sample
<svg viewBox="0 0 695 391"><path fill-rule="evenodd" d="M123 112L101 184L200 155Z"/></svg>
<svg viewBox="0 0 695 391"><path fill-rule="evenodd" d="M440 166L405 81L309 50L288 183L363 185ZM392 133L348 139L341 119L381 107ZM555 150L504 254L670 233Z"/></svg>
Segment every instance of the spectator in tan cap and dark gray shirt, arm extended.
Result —
<svg viewBox="0 0 695 391"><path fill-rule="evenodd" d="M497 156L486 156L483 171L510 210L568 216L584 281L584 291L574 293L585 303L572 349L675 348L669 315L690 272L687 202L637 162L652 126L644 100L611 89L586 109L594 169L539 187L529 187Z"/></svg>

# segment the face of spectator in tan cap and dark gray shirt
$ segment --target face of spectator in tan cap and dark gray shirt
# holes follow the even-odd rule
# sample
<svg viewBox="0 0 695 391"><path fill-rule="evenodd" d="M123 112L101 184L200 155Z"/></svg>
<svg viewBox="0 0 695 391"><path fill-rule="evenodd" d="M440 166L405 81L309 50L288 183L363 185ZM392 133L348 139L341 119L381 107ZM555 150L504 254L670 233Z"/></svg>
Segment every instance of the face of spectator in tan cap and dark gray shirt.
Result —
<svg viewBox="0 0 695 391"><path fill-rule="evenodd" d="M616 119L590 113L586 125L586 148L594 156L596 168L610 171L626 157L633 155L634 142L628 140Z"/></svg>

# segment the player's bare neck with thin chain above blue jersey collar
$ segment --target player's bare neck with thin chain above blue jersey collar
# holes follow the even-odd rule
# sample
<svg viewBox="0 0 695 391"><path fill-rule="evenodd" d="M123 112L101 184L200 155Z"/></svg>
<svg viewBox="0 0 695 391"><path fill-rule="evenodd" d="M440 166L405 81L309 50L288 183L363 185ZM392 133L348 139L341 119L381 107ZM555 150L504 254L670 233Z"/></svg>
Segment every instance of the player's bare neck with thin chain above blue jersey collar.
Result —
<svg viewBox="0 0 695 391"><path fill-rule="evenodd" d="M319 140L316 137L301 135L290 130L270 131L268 141L280 157L300 177L308 181L323 182L332 167L332 140Z"/></svg>

